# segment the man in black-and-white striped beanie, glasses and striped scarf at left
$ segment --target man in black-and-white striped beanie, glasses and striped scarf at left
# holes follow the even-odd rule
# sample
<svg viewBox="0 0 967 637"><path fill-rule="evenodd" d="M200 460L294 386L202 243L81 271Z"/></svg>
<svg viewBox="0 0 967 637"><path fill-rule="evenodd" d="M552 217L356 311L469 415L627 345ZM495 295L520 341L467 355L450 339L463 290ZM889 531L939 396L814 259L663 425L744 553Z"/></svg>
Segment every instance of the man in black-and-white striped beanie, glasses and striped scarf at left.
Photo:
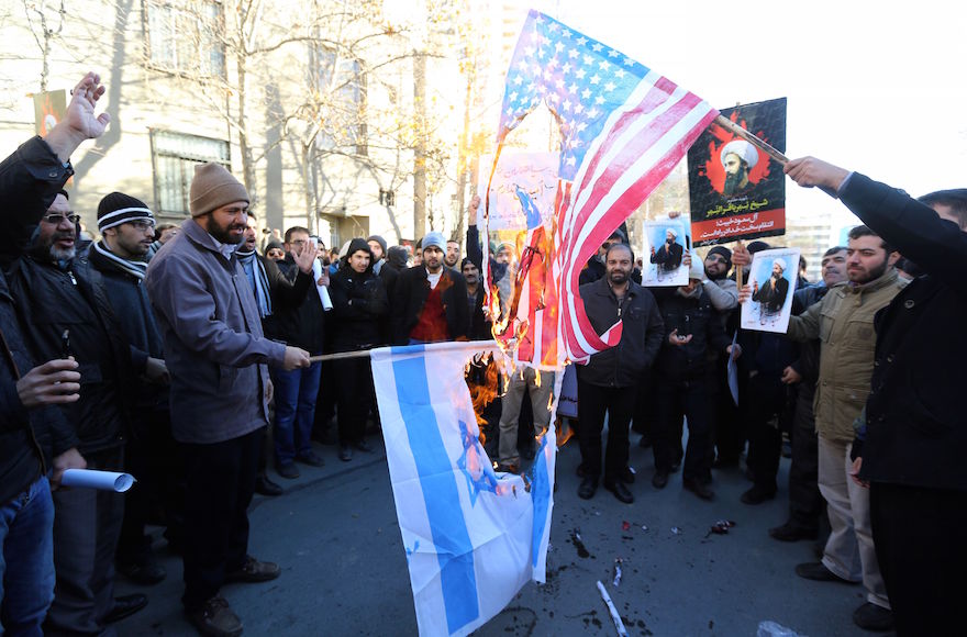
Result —
<svg viewBox="0 0 967 637"><path fill-rule="evenodd" d="M118 543L118 570L140 584L155 584L166 574L152 556L151 538L144 533L152 506L163 504L168 541L179 544L179 500L184 498L178 481L168 476L178 466L168 405L170 379L162 334L142 286L154 227L154 213L143 201L112 192L98 205L98 231L103 238L89 253L91 266L103 277L111 306L131 343L134 366L144 369L133 381L134 412L124 458L127 471L137 477L138 489L126 495Z"/></svg>

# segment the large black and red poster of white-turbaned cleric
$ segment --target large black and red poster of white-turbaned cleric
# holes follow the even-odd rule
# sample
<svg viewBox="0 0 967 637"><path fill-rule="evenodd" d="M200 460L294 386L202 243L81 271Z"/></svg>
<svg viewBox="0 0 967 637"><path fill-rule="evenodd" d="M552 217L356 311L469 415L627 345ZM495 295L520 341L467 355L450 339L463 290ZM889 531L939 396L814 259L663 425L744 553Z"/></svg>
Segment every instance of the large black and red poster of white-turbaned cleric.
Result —
<svg viewBox="0 0 967 637"><path fill-rule="evenodd" d="M786 98L721 111L786 152ZM688 152L694 246L786 234L786 178L766 153L712 122Z"/></svg>

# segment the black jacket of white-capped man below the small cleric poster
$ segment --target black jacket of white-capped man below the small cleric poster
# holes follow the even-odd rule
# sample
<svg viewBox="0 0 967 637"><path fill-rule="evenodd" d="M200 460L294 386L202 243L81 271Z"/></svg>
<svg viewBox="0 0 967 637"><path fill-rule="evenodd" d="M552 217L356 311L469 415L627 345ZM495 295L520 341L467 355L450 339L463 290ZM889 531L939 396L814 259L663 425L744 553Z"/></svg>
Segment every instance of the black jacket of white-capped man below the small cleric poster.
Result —
<svg viewBox="0 0 967 637"><path fill-rule="evenodd" d="M678 329L679 336L691 335L685 345L671 345L662 339L662 350L655 362L655 375L671 382L704 377L714 366L709 361L708 350L724 351L731 340L722 328L712 301L703 288L698 297L686 298L676 293L677 288L654 288L658 300L665 334Z"/></svg>

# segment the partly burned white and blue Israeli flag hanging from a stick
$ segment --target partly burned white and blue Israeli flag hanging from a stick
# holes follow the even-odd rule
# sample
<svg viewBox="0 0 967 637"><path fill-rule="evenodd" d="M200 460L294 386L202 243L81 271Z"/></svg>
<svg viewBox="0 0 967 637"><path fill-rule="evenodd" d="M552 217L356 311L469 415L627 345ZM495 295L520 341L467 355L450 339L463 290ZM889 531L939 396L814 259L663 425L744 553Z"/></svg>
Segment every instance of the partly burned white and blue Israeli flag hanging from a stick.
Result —
<svg viewBox="0 0 967 637"><path fill-rule="evenodd" d="M374 349L373 380L420 635L467 635L544 583L554 418L526 476L494 473L464 370L492 340Z"/></svg>

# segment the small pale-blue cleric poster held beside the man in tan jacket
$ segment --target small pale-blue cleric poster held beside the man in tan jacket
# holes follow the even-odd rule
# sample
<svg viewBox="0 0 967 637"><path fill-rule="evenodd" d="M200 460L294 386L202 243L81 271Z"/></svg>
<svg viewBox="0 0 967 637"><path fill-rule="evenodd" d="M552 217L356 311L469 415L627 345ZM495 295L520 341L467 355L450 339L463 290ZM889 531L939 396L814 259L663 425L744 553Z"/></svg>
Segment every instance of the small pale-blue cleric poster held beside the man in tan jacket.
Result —
<svg viewBox="0 0 967 637"><path fill-rule="evenodd" d="M748 272L752 295L742 304L742 328L786 334L799 272L799 248L759 250Z"/></svg>

